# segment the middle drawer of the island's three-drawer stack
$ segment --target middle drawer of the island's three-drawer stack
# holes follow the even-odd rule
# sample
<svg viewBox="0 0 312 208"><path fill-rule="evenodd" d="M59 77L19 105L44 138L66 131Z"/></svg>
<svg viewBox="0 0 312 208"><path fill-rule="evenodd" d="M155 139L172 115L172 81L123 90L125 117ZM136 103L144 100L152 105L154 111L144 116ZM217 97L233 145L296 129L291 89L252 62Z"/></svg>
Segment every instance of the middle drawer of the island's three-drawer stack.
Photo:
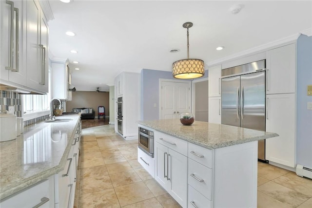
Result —
<svg viewBox="0 0 312 208"><path fill-rule="evenodd" d="M212 199L212 169L189 158L188 181L194 189Z"/></svg>

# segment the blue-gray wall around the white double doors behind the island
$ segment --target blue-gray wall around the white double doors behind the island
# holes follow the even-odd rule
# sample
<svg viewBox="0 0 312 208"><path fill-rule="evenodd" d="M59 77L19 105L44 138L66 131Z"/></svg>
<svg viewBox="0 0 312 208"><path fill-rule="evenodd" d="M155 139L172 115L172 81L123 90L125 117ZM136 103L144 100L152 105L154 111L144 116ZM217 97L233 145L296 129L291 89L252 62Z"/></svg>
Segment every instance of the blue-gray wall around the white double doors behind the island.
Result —
<svg viewBox="0 0 312 208"><path fill-rule="evenodd" d="M205 76L208 77L208 70ZM141 120L159 119L159 79L173 79L172 72L142 69L141 70ZM156 103L156 108L154 104Z"/></svg>

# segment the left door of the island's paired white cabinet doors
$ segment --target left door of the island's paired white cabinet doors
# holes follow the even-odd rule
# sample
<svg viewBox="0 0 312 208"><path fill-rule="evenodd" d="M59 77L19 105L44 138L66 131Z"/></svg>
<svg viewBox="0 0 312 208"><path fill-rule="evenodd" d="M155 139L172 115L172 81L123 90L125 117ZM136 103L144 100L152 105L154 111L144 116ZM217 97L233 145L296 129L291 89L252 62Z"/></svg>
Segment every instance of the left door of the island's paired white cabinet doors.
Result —
<svg viewBox="0 0 312 208"><path fill-rule="evenodd" d="M156 157L156 165L155 165L155 180L164 188L168 189L168 148L155 142L155 157Z"/></svg>

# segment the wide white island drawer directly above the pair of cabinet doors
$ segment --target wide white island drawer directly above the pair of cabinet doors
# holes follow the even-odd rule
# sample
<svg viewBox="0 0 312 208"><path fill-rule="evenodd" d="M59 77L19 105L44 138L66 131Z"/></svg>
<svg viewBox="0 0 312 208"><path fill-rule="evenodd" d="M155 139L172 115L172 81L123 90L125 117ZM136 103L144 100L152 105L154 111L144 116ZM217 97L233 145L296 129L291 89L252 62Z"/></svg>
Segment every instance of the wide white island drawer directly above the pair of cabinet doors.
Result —
<svg viewBox="0 0 312 208"><path fill-rule="evenodd" d="M154 132L155 141L187 156L187 141L161 132Z"/></svg>

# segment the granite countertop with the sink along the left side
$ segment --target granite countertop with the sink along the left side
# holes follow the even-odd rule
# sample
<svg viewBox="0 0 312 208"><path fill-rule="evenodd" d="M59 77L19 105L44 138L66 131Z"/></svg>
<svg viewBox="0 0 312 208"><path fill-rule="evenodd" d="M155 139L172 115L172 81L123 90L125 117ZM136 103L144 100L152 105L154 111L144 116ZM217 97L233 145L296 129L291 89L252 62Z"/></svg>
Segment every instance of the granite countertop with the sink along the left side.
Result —
<svg viewBox="0 0 312 208"><path fill-rule="evenodd" d="M80 114L24 128L15 140L0 142L0 199L64 169Z"/></svg>

